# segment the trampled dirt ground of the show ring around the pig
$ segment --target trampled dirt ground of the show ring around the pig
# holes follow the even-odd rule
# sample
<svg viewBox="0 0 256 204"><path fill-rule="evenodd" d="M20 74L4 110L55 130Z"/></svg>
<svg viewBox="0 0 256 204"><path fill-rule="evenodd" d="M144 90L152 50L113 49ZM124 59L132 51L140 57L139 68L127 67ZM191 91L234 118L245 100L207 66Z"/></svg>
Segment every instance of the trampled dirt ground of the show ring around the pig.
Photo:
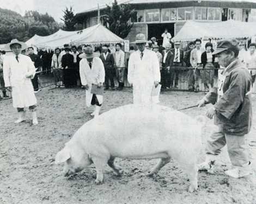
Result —
<svg viewBox="0 0 256 204"><path fill-rule="evenodd" d="M165 92L160 95L162 105L180 109L191 106L204 93ZM14 125L16 111L11 100L0 101L0 203L256 203L255 176L232 179L224 174L230 167L227 150L219 156L215 174L200 172L199 190L188 193L188 181L175 162L167 164L153 178L143 176L156 164L156 160L121 160L126 170L115 176L107 167L105 182L94 183L95 168L66 178L63 165L55 165L56 153L64 147L75 131L91 119L92 109L85 106L85 91L81 89L44 88L37 93L39 125L27 121ZM108 91L102 112L132 102L132 92ZM203 109L188 109L194 117L205 114ZM256 96L253 98L256 112ZM208 120L203 130L203 142L214 129ZM248 135L248 146L256 169L256 119ZM199 162L204 160L204 150Z"/></svg>

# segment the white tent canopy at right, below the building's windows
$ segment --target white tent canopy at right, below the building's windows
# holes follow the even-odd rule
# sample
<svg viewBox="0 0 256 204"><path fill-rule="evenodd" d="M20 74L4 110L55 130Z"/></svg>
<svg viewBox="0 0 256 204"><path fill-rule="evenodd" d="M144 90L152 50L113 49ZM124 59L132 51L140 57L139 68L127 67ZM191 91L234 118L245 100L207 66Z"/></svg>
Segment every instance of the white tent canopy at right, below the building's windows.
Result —
<svg viewBox="0 0 256 204"><path fill-rule="evenodd" d="M256 22L223 21L195 22L187 21L172 38L174 41L190 41L203 37L214 39L231 39L252 37L256 35Z"/></svg>

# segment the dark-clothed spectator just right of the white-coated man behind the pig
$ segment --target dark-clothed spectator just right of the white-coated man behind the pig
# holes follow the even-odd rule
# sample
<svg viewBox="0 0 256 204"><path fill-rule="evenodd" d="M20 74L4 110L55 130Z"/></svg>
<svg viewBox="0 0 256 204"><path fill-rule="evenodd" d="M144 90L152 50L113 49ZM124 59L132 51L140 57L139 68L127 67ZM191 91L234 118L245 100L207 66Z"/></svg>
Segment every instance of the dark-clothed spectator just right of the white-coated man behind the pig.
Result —
<svg viewBox="0 0 256 204"><path fill-rule="evenodd" d="M170 69L170 67L173 66L173 59L174 55L172 51L170 51L170 48L172 48L172 45L167 42L166 43L166 49L163 50L163 60L162 60L162 70L161 70L161 85L162 89L166 88L167 90L169 88L172 88L171 82L173 81L174 71L173 69Z"/></svg>

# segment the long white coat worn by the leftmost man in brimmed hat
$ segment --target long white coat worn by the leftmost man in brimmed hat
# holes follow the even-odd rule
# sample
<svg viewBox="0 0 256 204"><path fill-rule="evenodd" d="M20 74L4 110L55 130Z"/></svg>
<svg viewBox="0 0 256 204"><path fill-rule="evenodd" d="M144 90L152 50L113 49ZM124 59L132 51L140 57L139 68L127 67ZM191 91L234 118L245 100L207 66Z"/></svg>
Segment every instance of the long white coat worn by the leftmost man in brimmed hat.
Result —
<svg viewBox="0 0 256 204"><path fill-rule="evenodd" d="M3 64L5 87L11 86L13 91L13 107L23 108L36 104L34 88L31 78L26 78L26 74L35 75L34 64L26 55L19 55L19 62L15 55L6 56Z"/></svg>

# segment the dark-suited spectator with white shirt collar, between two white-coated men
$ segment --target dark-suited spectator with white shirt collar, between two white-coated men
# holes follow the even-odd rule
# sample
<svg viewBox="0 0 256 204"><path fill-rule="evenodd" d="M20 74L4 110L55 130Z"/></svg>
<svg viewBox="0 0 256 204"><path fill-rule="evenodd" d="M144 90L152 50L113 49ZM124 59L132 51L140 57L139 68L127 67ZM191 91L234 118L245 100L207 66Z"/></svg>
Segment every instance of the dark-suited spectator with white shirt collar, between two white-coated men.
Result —
<svg viewBox="0 0 256 204"><path fill-rule="evenodd" d="M108 90L109 88L109 80L111 83L111 89L114 90L114 75L115 75L115 69L114 69L114 56L108 52L108 46L103 45L102 46L102 53L100 54L100 59L103 62L104 68L105 68L105 90Z"/></svg>

